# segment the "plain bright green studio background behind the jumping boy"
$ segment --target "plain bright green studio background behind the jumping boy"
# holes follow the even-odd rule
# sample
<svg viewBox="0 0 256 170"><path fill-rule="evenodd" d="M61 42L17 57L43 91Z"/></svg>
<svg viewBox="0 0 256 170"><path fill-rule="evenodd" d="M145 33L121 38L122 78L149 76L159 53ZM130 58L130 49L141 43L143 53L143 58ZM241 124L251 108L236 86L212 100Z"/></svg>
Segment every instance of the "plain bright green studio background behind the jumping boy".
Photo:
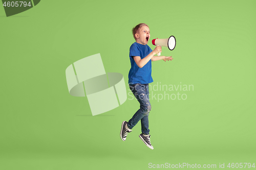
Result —
<svg viewBox="0 0 256 170"><path fill-rule="evenodd" d="M256 163L255 7L256 1L59 0L10 17L0 7L0 168ZM140 123L120 139L122 121L139 108L135 99L128 95L120 107L92 116L87 98L69 94L65 76L70 64L100 53L106 72L124 76L128 93L131 30L140 22L150 26L152 49L154 38L177 39L174 51L162 48L173 61L152 63L152 85L194 85L180 92L186 100L151 100L154 150L139 138Z"/></svg>

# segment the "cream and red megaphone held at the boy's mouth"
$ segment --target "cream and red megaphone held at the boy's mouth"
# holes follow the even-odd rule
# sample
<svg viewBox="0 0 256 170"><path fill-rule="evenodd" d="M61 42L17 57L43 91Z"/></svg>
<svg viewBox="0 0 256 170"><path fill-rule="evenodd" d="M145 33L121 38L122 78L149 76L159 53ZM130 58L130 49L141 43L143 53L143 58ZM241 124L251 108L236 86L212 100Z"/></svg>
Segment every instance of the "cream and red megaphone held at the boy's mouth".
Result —
<svg viewBox="0 0 256 170"><path fill-rule="evenodd" d="M165 39L153 39L152 40L152 44L153 45L161 45L161 46L166 46L169 48L169 50L174 50L175 46L176 46L176 39L175 37L172 35L169 38L165 38ZM158 56L161 55L161 53L157 53Z"/></svg>

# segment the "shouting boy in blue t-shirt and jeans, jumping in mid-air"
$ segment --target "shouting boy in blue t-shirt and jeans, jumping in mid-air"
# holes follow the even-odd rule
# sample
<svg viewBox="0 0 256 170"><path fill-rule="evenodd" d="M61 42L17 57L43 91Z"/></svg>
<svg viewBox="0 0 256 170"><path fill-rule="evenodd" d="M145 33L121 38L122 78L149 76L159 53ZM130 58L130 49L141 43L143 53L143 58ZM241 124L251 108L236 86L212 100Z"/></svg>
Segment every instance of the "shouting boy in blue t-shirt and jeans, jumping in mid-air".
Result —
<svg viewBox="0 0 256 170"><path fill-rule="evenodd" d="M164 60L172 61L172 57L154 56L162 52L161 46L156 46L154 51L147 45L150 39L150 28L145 23L140 23L132 30L136 40L130 47L131 69L129 71L129 87L136 99L140 103L140 109L133 115L129 122L122 123L120 137L125 141L132 128L141 122L141 131L139 135L141 140L148 148L154 149L150 142L150 130L148 129L148 113L151 111L149 101L148 83L152 83L151 61Z"/></svg>

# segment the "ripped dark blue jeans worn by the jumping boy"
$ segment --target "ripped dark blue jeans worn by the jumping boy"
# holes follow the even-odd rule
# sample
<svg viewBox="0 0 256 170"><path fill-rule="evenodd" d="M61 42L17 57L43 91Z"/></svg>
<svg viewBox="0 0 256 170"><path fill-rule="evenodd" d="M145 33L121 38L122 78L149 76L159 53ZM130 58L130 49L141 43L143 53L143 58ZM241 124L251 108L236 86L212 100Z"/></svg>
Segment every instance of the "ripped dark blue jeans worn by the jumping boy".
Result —
<svg viewBox="0 0 256 170"><path fill-rule="evenodd" d="M148 129L148 113L151 111L148 84L129 84L129 87L140 103L140 109L129 120L127 127L132 129L140 120L141 132L148 135L150 134Z"/></svg>

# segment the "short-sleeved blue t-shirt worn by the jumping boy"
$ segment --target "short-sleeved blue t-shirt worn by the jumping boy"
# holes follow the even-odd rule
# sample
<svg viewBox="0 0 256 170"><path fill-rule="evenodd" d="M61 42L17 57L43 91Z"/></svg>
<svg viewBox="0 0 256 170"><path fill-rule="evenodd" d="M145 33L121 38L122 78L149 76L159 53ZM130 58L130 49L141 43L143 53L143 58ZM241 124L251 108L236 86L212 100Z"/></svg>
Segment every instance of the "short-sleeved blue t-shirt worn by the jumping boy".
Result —
<svg viewBox="0 0 256 170"><path fill-rule="evenodd" d="M150 46L134 42L130 47L130 61L131 69L129 71L129 84L147 84L152 83L151 76L151 60L148 61L142 68L140 68L133 59L133 56L140 56L141 59L145 58L152 52Z"/></svg>

